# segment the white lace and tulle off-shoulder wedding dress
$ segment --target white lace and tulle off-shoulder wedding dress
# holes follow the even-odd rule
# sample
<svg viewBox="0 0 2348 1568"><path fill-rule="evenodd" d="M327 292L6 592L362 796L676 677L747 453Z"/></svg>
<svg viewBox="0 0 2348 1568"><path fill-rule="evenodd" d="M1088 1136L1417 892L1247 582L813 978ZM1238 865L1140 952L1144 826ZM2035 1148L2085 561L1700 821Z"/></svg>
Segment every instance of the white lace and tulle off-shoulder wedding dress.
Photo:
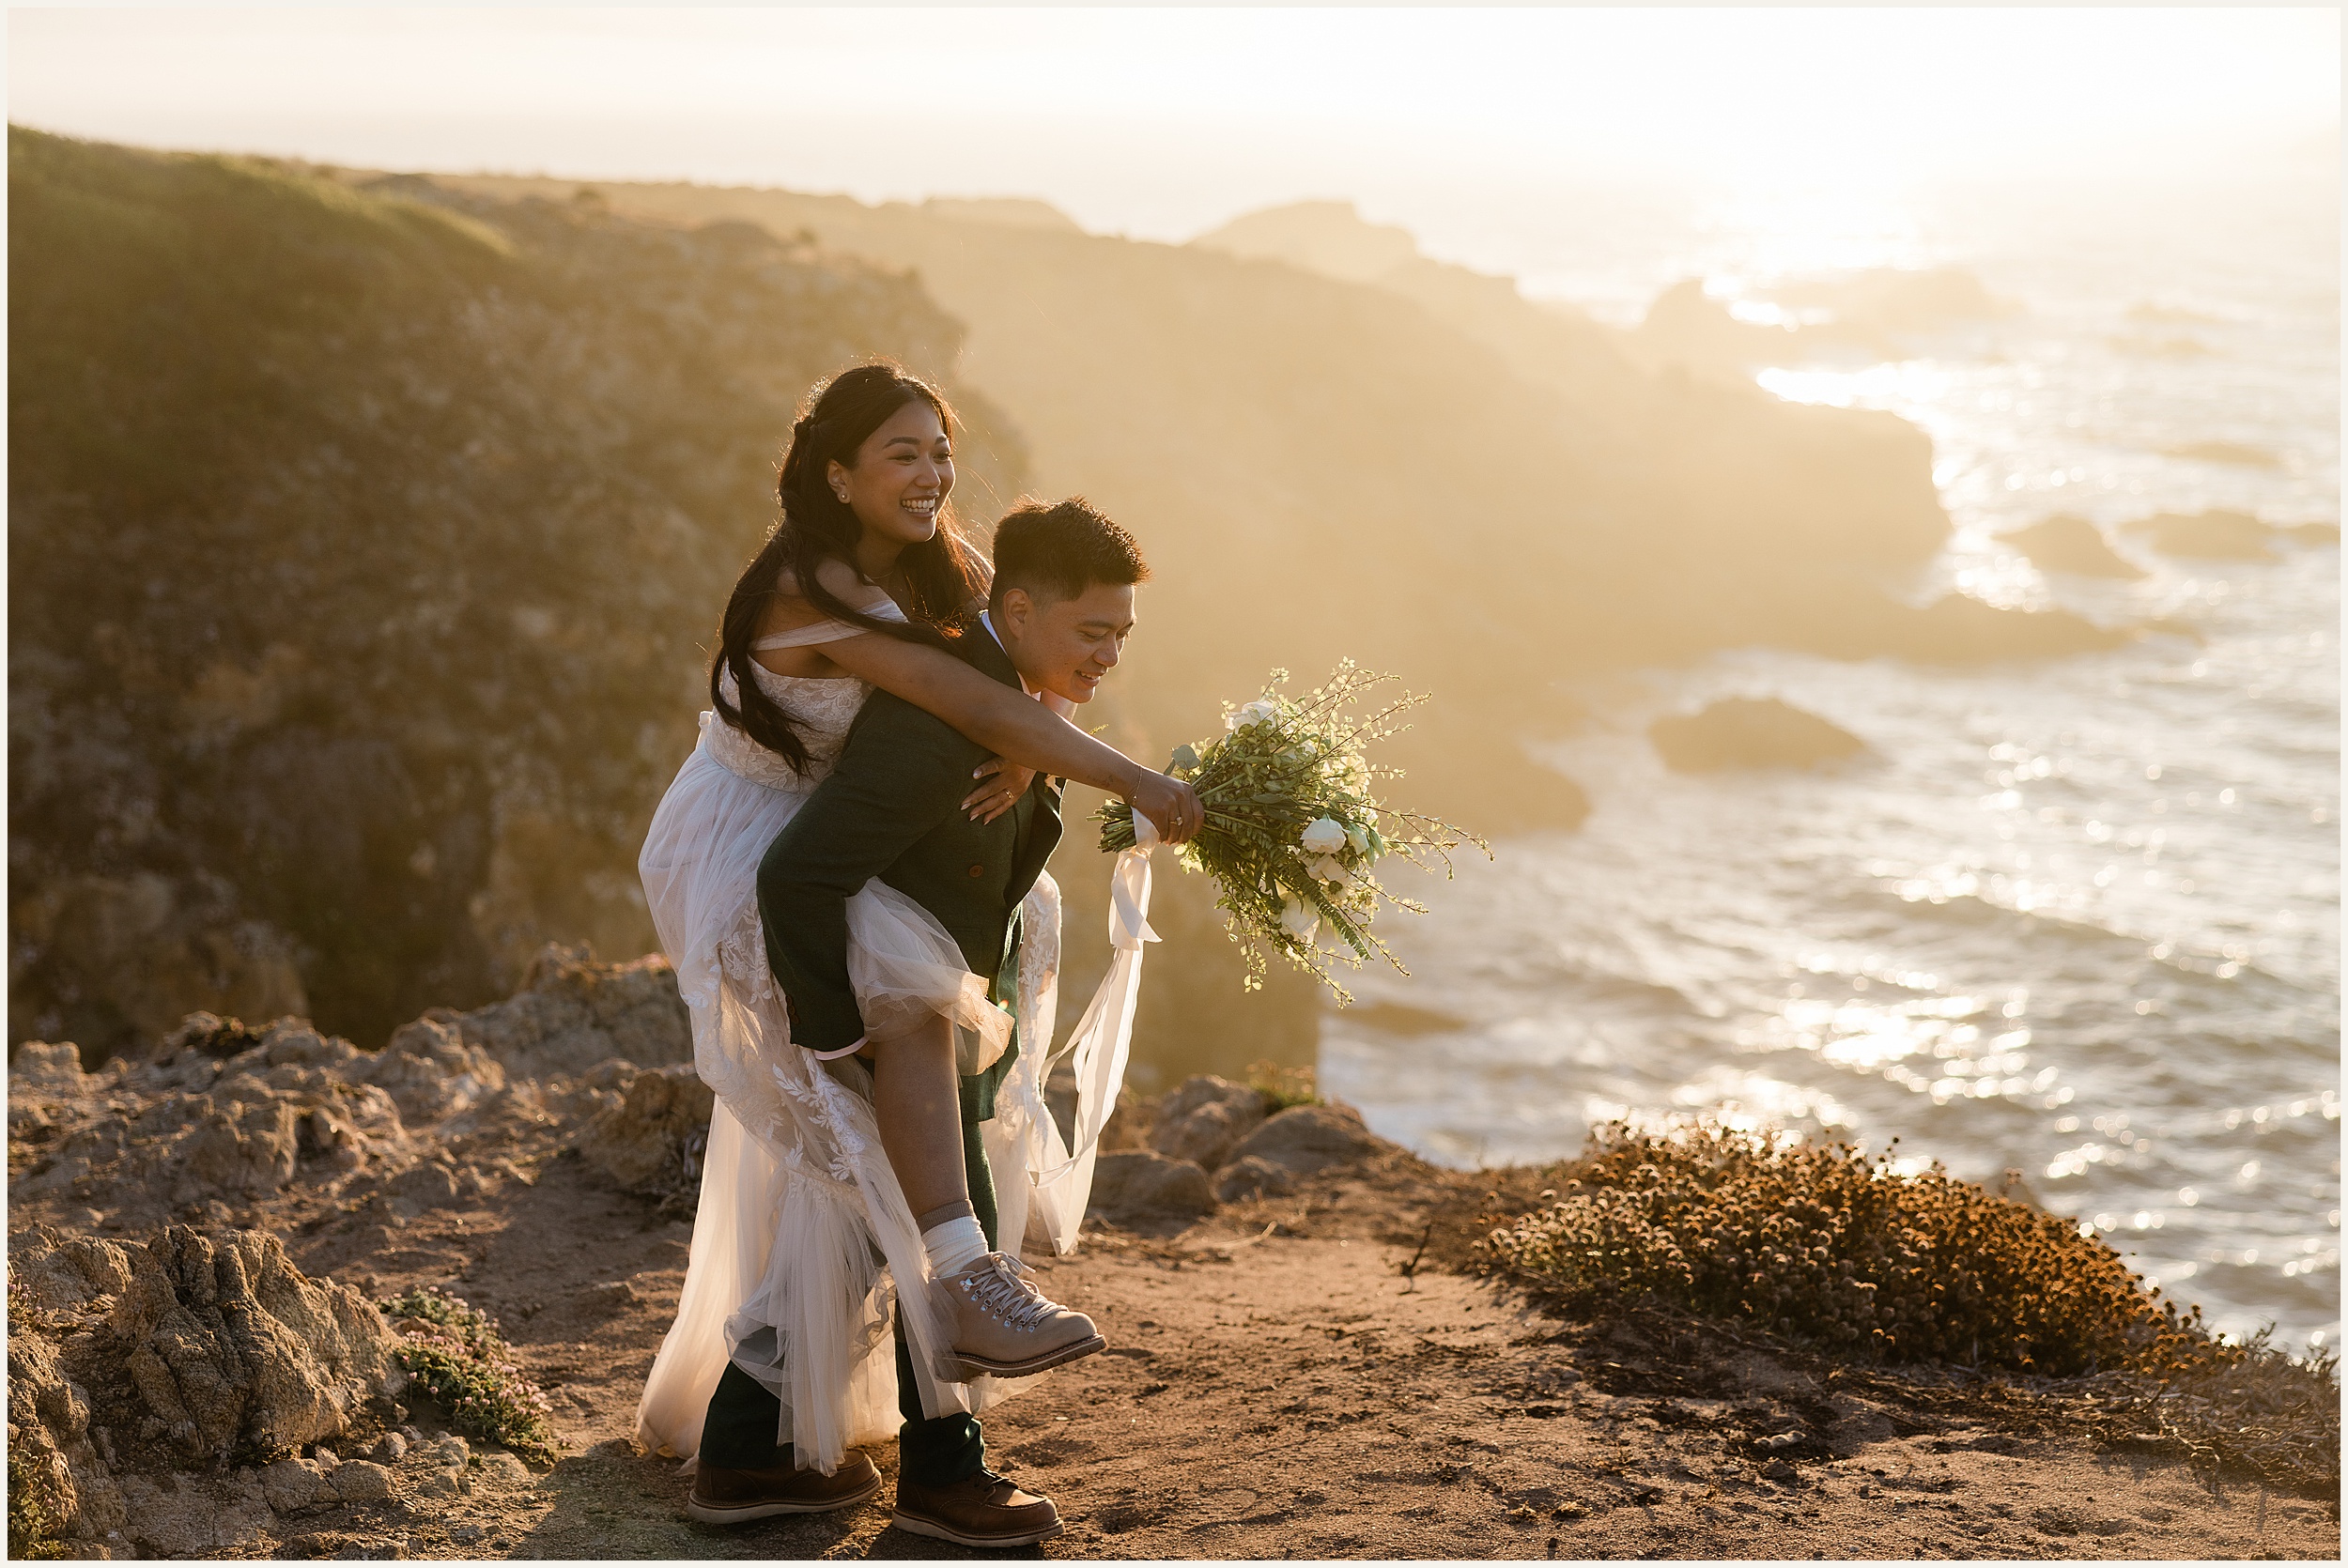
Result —
<svg viewBox="0 0 2348 1568"><path fill-rule="evenodd" d="M899 617L895 606L876 613ZM819 622L761 638L756 648L819 646L859 631ZM730 688L733 674L723 681ZM702 714L700 744L662 796L639 857L653 927L693 1014L693 1063L718 1103L686 1286L636 1406L636 1432L655 1453L695 1455L709 1394L733 1359L782 1401L777 1441L796 1446L801 1467L829 1474L850 1446L897 1432L892 1305L904 1314L927 1415L979 1411L1024 1380L932 1376L946 1350L944 1326L873 1108L850 1087L855 1068L826 1068L791 1045L765 960L758 861L829 775L871 688L768 669L758 669L758 685L798 721L810 772L794 772L714 711ZM1031 1218L1057 1251L1075 1249L1094 1143L1125 1075L1141 944L1155 941L1146 922L1146 850L1120 857L1113 878L1118 951L1061 1052L1078 1073L1073 1155L1043 1103L1059 1000L1059 887L1050 873L1021 908L1021 1049L984 1124L998 1242L1014 1256ZM850 981L866 1026L888 1033L885 1019L930 1009L960 1026L965 1073L1003 1054L1010 1021L986 1002L986 981L967 972L935 915L873 878L848 901L848 932ZM897 1282L920 1289L895 1289Z"/></svg>

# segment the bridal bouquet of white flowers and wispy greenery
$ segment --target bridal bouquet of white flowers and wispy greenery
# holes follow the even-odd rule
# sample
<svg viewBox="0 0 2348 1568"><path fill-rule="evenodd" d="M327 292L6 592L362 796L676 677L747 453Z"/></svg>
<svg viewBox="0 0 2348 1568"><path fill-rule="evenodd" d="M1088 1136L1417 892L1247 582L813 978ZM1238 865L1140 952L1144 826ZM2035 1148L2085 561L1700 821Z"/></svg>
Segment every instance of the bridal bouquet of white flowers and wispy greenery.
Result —
<svg viewBox="0 0 2348 1568"><path fill-rule="evenodd" d="M1282 695L1289 674L1275 669L1263 695L1223 711L1223 735L1195 746L1176 746L1169 772L1188 779L1207 807L1207 826L1181 847L1186 871L1207 871L1219 890L1216 908L1230 939L1247 958L1247 986L1263 984L1266 951L1329 986L1338 1005L1352 995L1331 974L1334 962L1355 969L1383 958L1402 969L1369 922L1378 904L1425 913L1423 904L1390 894L1371 866L1388 854L1423 871L1439 861L1451 873L1451 850L1491 845L1435 817L1395 810L1371 793L1378 777L1402 777L1395 768L1371 768L1362 749L1395 735L1402 714L1425 697L1395 697L1359 711L1364 697L1392 676L1355 669L1352 660L1303 697ZM1101 822L1101 850L1134 845L1134 812L1111 800ZM1322 932L1334 937L1322 944Z"/></svg>

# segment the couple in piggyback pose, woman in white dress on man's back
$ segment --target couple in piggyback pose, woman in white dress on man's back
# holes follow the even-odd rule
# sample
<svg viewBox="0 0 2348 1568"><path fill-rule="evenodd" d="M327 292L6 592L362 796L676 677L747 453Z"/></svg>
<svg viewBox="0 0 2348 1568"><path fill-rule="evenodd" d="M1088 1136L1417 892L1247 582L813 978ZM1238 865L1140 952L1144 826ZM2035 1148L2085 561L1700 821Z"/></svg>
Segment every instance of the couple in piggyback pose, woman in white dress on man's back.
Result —
<svg viewBox="0 0 2348 1568"><path fill-rule="evenodd" d="M932 387L869 364L819 390L643 845L718 1106L639 1430L695 1458L688 1507L714 1523L859 1502L880 1474L855 1446L895 1434L899 1528L1043 1540L1052 1505L986 1467L974 1413L1101 1347L1014 1256L1031 1211L1071 1246L1089 1181L1043 1108L1057 779L1122 796L1165 843L1200 805L1068 723L1134 627L1132 535L1028 502L989 566L951 491ZM1104 1012L1129 1028L1129 1000L1085 1023ZM1104 1113L1080 1103L1078 1127Z"/></svg>

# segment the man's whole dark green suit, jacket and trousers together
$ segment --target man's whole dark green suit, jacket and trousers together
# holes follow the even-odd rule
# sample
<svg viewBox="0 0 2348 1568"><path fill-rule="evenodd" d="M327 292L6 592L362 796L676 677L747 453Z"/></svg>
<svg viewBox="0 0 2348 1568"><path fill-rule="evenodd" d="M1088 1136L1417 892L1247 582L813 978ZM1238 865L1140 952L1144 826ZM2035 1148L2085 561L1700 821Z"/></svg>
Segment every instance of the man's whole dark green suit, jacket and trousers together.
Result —
<svg viewBox="0 0 2348 1568"><path fill-rule="evenodd" d="M1019 685L1019 671L984 624L958 638L974 669ZM791 1005L791 1040L810 1052L838 1052L864 1035L848 984L848 899L880 878L932 915L963 948L972 974L989 974L993 1000L1017 998L1019 901L1059 843L1059 791L1035 779L1003 817L970 822L963 798L986 749L911 702L873 692L857 714L841 761L758 864L758 918L765 958ZM986 1073L965 1077L963 1164L986 1244L998 1246L996 1183L979 1143L979 1122L996 1113L996 1087L1017 1061L1021 1040ZM1045 1049L1050 1042L1038 1042ZM1017 1242L1017 1237L1012 1237ZM927 1420L913 1383L904 1326L897 1329L899 1474L920 1486L949 1486L986 1462L974 1415ZM775 1441L780 1401L735 1364L726 1364L709 1399L700 1458L728 1469L784 1462Z"/></svg>

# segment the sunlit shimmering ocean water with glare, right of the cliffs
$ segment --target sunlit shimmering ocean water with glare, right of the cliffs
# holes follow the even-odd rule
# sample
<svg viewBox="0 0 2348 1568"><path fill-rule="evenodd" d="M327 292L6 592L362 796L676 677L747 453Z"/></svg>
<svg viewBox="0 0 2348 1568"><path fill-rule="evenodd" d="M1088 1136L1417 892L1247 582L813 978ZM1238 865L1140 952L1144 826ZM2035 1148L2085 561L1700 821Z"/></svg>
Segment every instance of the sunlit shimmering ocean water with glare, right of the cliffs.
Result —
<svg viewBox="0 0 2348 1568"><path fill-rule="evenodd" d="M1385 927L1413 979L1331 1014L1322 1080L1449 1164L1712 1113L2017 1169L2228 1333L2339 1338L2339 549L2043 575L1996 535L2238 507L2339 521L2336 197L1726 197L1620 235L1526 216L1477 261L1613 319L1679 277L1749 319L1787 279L1970 265L2019 305L1904 357L1773 366L1787 399L1935 441L1956 538L1909 584L2101 624L2071 660L1930 669L1742 650L1590 681L1547 749L1594 810ZM1507 249L1514 244L1514 258ZM2226 441L2212 462L2172 448ZM1674 775L1646 725L1773 695L1860 735L1822 770Z"/></svg>

